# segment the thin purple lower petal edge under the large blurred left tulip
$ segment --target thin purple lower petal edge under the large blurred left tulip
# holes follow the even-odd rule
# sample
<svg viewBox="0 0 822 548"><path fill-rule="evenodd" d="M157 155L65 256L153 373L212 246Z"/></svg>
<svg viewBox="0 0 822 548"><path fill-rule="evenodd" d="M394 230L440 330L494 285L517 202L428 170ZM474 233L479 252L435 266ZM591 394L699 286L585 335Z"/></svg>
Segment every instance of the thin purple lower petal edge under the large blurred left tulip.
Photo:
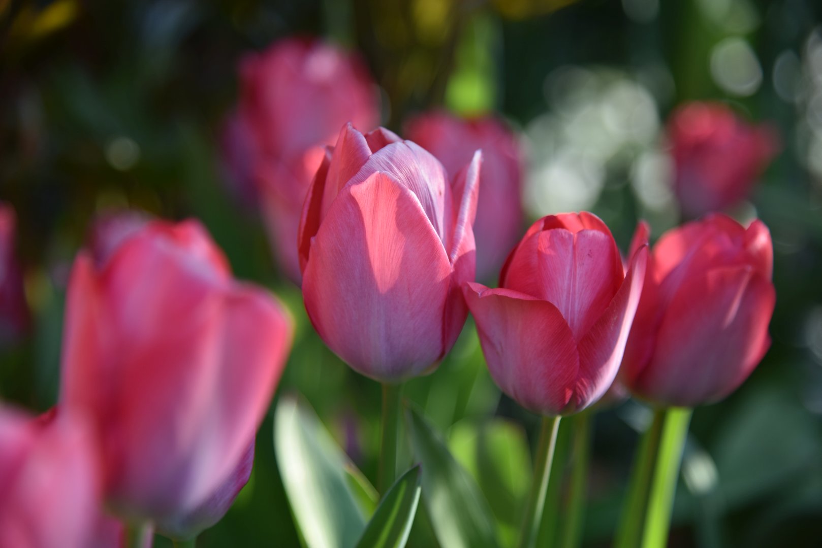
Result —
<svg viewBox="0 0 822 548"><path fill-rule="evenodd" d="M203 502L193 510L181 513L173 518L165 518L156 523L157 532L169 538L187 540L199 535L205 529L215 525L229 511L234 499L248 483L254 465L254 442L248 444L239 463L231 474Z"/></svg>

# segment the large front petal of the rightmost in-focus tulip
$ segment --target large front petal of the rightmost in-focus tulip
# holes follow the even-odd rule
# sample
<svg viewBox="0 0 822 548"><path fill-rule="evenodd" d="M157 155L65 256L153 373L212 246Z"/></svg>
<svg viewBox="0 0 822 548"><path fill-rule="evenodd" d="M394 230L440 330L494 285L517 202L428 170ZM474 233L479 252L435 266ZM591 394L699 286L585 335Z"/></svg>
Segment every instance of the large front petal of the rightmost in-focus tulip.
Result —
<svg viewBox="0 0 822 548"><path fill-rule="evenodd" d="M764 356L775 302L773 285L749 265L688 279L665 313L635 392L689 407L723 398Z"/></svg>

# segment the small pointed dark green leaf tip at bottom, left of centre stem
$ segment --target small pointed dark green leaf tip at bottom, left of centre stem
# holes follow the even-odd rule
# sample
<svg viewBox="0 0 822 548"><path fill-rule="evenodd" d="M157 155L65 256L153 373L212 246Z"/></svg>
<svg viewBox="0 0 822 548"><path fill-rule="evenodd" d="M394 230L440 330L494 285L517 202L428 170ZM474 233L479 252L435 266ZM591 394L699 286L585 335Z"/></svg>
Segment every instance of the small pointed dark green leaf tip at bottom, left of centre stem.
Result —
<svg viewBox="0 0 822 548"><path fill-rule="evenodd" d="M417 514L420 469L412 467L399 477L377 507L358 548L403 548Z"/></svg>

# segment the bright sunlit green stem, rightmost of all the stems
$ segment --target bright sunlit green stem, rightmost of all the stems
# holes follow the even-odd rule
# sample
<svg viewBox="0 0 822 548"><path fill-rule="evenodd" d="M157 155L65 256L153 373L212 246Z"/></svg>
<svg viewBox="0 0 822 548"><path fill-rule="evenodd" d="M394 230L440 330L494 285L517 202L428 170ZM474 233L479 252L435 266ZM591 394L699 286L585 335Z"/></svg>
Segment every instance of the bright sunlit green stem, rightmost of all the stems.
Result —
<svg viewBox="0 0 822 548"><path fill-rule="evenodd" d="M667 408L664 412L665 424L650 485L642 548L667 546L682 449L685 447L692 412L690 408Z"/></svg>

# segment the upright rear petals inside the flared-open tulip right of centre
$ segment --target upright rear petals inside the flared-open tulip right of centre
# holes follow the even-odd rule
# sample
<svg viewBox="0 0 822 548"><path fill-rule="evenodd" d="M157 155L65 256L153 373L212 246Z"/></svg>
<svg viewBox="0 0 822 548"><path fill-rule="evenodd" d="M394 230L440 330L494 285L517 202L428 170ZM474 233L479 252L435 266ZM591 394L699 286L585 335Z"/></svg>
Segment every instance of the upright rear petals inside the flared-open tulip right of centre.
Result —
<svg viewBox="0 0 822 548"><path fill-rule="evenodd" d="M520 244L505 287L551 302L580 340L603 314L622 278L622 260L610 234L554 228Z"/></svg>

